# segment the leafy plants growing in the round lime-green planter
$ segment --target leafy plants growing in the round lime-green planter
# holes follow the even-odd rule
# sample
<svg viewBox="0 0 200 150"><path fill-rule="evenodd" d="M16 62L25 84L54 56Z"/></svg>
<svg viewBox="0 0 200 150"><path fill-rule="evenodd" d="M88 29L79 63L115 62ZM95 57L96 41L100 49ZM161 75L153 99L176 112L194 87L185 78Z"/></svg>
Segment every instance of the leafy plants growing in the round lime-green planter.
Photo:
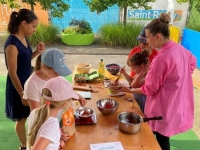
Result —
<svg viewBox="0 0 200 150"><path fill-rule="evenodd" d="M83 20L75 20L72 19L72 21L69 23L69 27L65 28L63 30L66 34L89 34L92 33L92 28L90 24Z"/></svg>

